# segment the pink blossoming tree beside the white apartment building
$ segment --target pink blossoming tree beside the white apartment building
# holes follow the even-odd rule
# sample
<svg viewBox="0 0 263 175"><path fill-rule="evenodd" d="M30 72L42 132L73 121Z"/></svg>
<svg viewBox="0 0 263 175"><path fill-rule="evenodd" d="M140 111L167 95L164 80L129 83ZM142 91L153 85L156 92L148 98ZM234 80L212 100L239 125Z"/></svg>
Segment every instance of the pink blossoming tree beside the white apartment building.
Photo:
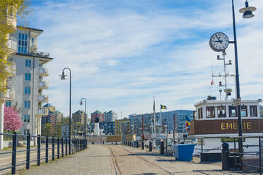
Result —
<svg viewBox="0 0 263 175"><path fill-rule="evenodd" d="M16 131L23 126L21 115L14 107L4 108L4 130Z"/></svg>

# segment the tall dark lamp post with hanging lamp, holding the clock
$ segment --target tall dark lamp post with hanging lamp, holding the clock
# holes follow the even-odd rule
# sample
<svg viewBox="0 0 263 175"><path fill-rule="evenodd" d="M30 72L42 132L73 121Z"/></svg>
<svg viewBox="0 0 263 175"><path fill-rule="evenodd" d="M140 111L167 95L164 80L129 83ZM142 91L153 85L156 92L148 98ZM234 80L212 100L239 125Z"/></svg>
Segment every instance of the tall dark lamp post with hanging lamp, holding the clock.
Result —
<svg viewBox="0 0 263 175"><path fill-rule="evenodd" d="M242 18L252 18L254 15L252 11L255 11L257 8L249 7L247 0L245 1L245 8L239 10L240 13L243 13ZM239 73L238 73L238 46L237 46L237 36L235 30L235 8L234 0L232 0L232 13L233 13L233 32L234 32L234 41L230 42L234 44L235 47L235 88L236 88L236 98L240 99L240 85L239 85ZM241 106L238 105L238 136L242 136L242 119L241 119ZM242 153L242 138L238 139L238 150Z"/></svg>

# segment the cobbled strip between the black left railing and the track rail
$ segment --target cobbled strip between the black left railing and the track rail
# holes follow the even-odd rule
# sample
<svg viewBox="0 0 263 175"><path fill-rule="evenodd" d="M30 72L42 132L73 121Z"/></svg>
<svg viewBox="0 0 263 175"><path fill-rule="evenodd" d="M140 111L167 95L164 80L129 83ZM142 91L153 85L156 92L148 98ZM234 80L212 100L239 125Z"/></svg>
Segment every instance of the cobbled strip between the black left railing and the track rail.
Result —
<svg viewBox="0 0 263 175"><path fill-rule="evenodd" d="M18 174L27 175L66 175L66 174L112 174L112 158L107 147L88 145L88 149L41 164L40 167L30 167L29 170L18 171Z"/></svg>

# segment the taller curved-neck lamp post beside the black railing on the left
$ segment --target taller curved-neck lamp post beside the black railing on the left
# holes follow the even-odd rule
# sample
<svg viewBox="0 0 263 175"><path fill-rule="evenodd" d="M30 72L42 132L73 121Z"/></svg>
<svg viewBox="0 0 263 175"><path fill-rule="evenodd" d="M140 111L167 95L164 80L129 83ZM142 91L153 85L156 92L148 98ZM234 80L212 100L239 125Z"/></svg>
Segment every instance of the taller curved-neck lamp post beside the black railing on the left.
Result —
<svg viewBox="0 0 263 175"><path fill-rule="evenodd" d="M64 71L69 70L69 155L71 154L71 69L64 68L62 71L61 80L66 80L66 76Z"/></svg>

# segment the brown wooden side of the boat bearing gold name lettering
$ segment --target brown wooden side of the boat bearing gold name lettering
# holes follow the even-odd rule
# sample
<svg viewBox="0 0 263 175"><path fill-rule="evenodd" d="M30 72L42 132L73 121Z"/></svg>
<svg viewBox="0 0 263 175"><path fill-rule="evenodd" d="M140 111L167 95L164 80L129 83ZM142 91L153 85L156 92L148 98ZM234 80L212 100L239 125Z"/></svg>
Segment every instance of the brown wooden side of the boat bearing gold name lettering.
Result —
<svg viewBox="0 0 263 175"><path fill-rule="evenodd" d="M192 121L188 135L238 133L238 119ZM263 119L242 119L242 133L263 133Z"/></svg>

